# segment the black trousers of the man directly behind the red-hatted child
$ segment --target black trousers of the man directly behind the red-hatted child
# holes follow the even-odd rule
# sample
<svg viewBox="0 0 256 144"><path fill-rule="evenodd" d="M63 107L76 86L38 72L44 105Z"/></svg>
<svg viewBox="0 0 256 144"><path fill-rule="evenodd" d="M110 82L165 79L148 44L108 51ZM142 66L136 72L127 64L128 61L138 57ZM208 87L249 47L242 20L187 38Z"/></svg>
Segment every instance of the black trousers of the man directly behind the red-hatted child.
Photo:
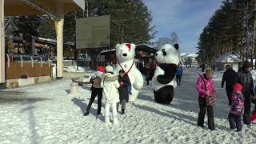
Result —
<svg viewBox="0 0 256 144"><path fill-rule="evenodd" d="M250 91L243 92L243 94L244 94L244 97L245 97L245 102L244 102L245 109L243 111L243 122L246 125L249 125L250 124L250 113L251 113L251 110L250 110L250 107L251 107Z"/></svg>

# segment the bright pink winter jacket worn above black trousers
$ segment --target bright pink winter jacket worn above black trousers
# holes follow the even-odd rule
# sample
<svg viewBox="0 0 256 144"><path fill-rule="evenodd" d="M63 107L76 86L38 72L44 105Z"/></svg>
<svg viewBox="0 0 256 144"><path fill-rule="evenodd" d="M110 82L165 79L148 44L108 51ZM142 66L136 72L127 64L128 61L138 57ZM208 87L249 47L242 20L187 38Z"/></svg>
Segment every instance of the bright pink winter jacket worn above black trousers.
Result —
<svg viewBox="0 0 256 144"><path fill-rule="evenodd" d="M209 91L210 94L214 92L213 86L213 78L207 79L206 75L200 75L197 82L197 90L199 93L199 97L205 98L206 97L206 90ZM206 85L206 86L205 86Z"/></svg>

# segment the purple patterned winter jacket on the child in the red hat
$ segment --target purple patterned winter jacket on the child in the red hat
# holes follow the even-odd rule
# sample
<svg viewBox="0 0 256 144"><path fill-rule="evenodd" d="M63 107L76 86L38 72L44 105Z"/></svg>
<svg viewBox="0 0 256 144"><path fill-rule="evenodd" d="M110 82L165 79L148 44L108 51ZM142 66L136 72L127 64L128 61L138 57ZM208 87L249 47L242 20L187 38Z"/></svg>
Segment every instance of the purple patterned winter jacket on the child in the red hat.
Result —
<svg viewBox="0 0 256 144"><path fill-rule="evenodd" d="M231 98L232 98L232 103L230 106L230 113L231 114L235 114L235 115L240 115L242 114L242 108L244 105L244 99L242 92L234 92L231 94Z"/></svg>

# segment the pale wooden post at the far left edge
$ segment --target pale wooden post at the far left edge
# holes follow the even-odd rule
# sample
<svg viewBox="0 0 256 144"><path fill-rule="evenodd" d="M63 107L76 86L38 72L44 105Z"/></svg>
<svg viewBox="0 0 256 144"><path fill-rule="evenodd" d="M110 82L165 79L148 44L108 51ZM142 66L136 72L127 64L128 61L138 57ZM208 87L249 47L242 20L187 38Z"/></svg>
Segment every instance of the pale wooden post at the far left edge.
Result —
<svg viewBox="0 0 256 144"><path fill-rule="evenodd" d="M5 68L5 14L4 5L5 0L0 0L0 83L6 82L6 68Z"/></svg>

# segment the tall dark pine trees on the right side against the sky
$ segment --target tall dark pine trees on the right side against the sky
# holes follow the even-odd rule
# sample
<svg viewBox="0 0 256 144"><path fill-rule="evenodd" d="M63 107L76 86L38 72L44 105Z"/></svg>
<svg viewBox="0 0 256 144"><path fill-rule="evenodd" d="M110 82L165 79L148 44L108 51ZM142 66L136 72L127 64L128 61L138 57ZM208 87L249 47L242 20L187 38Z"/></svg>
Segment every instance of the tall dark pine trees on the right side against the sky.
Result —
<svg viewBox="0 0 256 144"><path fill-rule="evenodd" d="M236 51L242 59L245 57L246 50L249 51L254 45L254 2L222 2L223 5L210 18L198 39L198 60L210 63L227 51Z"/></svg>

